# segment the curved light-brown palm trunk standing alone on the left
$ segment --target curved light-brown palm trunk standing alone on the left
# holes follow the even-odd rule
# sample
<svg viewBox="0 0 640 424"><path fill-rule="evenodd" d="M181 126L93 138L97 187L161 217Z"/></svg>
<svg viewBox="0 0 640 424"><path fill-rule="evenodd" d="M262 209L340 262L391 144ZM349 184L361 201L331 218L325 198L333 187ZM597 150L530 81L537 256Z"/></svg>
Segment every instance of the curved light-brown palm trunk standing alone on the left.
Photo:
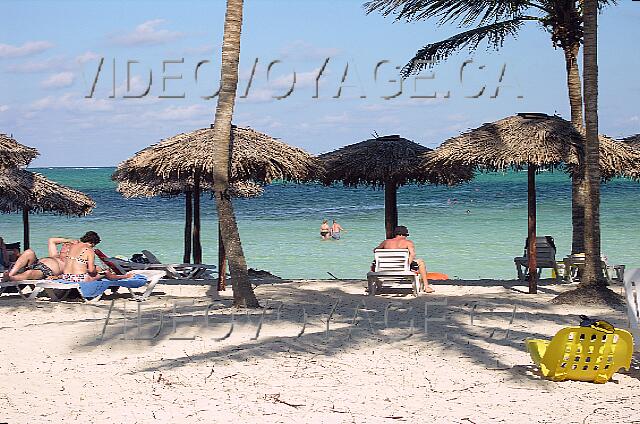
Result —
<svg viewBox="0 0 640 424"><path fill-rule="evenodd" d="M218 210L218 225L233 279L233 303L235 306L259 307L247 272L247 261L240 242L238 224L229 194L229 147L231 144L231 119L238 88L238 62L240 61L240 33L242 31L243 0L227 0L222 39L222 67L220 93L213 126L214 143L214 195ZM219 270L224 272L224 270Z"/></svg>

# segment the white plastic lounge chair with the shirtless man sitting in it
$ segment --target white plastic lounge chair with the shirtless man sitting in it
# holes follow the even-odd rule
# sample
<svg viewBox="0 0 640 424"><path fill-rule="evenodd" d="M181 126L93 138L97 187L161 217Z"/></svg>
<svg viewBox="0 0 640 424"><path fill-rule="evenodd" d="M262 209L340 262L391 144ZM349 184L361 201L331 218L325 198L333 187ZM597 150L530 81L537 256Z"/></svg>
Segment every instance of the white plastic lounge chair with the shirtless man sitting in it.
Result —
<svg viewBox="0 0 640 424"><path fill-rule="evenodd" d="M422 292L420 276L409 269L407 249L376 249L373 253L374 271L367 273L367 291L375 296L384 288L406 287L411 284L413 295Z"/></svg>

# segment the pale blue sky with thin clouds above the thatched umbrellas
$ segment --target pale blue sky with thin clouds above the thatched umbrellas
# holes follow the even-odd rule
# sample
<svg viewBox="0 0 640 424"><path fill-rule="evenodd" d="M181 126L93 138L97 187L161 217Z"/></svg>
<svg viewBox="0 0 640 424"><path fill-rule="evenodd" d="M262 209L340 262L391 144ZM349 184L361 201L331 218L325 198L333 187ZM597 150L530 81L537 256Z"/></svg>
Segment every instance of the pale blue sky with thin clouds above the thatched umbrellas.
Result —
<svg viewBox="0 0 640 424"><path fill-rule="evenodd" d="M224 1L1 3L0 133L40 151L31 166L115 166L213 122ZM612 137L640 132L640 2L619 3L599 21L599 125ZM234 123L317 154L373 134L436 147L518 112L569 118L562 51L537 24L400 90L396 68L458 29L362 4L245 0Z"/></svg>

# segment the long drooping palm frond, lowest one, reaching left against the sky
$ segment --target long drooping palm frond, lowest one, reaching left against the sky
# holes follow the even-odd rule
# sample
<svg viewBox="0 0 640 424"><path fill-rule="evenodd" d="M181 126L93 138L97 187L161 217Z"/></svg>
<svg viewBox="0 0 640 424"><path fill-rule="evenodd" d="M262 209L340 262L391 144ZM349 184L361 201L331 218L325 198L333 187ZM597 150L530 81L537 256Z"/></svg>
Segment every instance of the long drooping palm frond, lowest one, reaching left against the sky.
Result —
<svg viewBox="0 0 640 424"><path fill-rule="evenodd" d="M468 47L470 51L475 50L478 45L486 40L489 46L499 49L504 44L507 37L515 37L520 26L530 20L537 20L532 16L523 16L509 21L496 22L480 28L456 34L446 40L437 43L427 44L402 68L402 75L407 77L428 68L437 62L445 60L453 53Z"/></svg>

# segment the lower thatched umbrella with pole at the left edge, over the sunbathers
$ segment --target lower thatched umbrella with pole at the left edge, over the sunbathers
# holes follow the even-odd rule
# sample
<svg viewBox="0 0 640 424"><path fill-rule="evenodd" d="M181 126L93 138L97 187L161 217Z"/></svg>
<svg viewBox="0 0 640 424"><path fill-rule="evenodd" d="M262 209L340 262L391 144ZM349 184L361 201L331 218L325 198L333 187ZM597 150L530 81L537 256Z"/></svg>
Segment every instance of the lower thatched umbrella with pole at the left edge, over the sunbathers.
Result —
<svg viewBox="0 0 640 424"><path fill-rule="evenodd" d="M22 212L24 249L29 248L29 212L84 216L95 207L86 194L22 169L0 170L0 212Z"/></svg>

